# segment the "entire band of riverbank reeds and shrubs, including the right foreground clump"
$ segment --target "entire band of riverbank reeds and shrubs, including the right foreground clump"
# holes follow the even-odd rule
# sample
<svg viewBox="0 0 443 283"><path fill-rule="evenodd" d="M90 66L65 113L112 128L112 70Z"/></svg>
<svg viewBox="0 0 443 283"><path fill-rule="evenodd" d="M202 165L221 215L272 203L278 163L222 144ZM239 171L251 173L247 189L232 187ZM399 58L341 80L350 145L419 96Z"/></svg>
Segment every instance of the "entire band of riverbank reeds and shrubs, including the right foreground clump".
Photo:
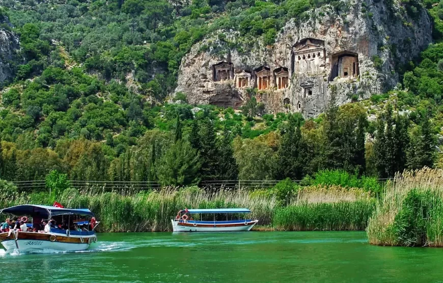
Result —
<svg viewBox="0 0 443 283"><path fill-rule="evenodd" d="M286 179L268 189L53 191L17 192L13 184L1 181L0 207L57 200L66 207L92 210L102 223L100 232L172 231L171 219L181 209L244 207L251 210L248 218L259 220L256 231L366 229L374 245L443 247L441 169L404 171L383 186L374 179L326 170L300 184Z"/></svg>

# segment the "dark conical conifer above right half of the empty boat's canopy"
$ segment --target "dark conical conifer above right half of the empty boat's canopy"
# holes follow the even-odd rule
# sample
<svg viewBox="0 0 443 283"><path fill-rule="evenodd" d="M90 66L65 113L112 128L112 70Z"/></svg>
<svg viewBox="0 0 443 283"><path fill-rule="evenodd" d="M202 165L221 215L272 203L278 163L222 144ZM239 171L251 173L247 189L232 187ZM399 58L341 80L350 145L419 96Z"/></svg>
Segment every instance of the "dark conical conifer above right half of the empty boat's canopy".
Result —
<svg viewBox="0 0 443 283"><path fill-rule="evenodd" d="M220 153L218 178L220 180L236 180L238 178L238 166L232 149L232 137L226 128L223 137L220 139L218 152Z"/></svg>

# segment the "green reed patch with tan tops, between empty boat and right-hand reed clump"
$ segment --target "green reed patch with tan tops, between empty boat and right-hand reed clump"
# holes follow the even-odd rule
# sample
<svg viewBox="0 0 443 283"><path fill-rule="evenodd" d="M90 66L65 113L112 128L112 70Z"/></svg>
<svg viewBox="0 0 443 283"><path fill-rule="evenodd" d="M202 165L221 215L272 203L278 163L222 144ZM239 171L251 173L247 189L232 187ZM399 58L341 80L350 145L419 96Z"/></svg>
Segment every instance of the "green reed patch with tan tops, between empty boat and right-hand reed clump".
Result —
<svg viewBox="0 0 443 283"><path fill-rule="evenodd" d="M306 187L287 207L275 210L273 225L279 230L364 230L374 202L362 189Z"/></svg>

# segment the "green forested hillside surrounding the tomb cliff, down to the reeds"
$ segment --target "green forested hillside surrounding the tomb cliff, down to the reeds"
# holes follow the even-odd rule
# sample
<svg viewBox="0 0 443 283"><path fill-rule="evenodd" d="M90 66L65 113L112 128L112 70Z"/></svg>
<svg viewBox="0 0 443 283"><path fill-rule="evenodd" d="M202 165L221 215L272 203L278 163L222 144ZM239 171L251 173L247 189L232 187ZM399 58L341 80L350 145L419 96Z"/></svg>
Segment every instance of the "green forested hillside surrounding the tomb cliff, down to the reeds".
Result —
<svg viewBox="0 0 443 283"><path fill-rule="evenodd" d="M167 102L181 58L208 33L237 30L241 36L226 41L247 52L257 37L272 44L288 19L322 5L346 13L343 3L2 1L0 14L12 28L2 27L19 35L23 61L13 62L15 78L2 91L1 177L43 179L55 169L71 179L187 185L301 179L321 169L384 178L438 166L443 2L437 0L401 2L408 13L429 10L436 43L402 68L403 84L391 93L330 106L307 121L263 113L254 97L242 113ZM223 32L218 37L225 39Z"/></svg>

